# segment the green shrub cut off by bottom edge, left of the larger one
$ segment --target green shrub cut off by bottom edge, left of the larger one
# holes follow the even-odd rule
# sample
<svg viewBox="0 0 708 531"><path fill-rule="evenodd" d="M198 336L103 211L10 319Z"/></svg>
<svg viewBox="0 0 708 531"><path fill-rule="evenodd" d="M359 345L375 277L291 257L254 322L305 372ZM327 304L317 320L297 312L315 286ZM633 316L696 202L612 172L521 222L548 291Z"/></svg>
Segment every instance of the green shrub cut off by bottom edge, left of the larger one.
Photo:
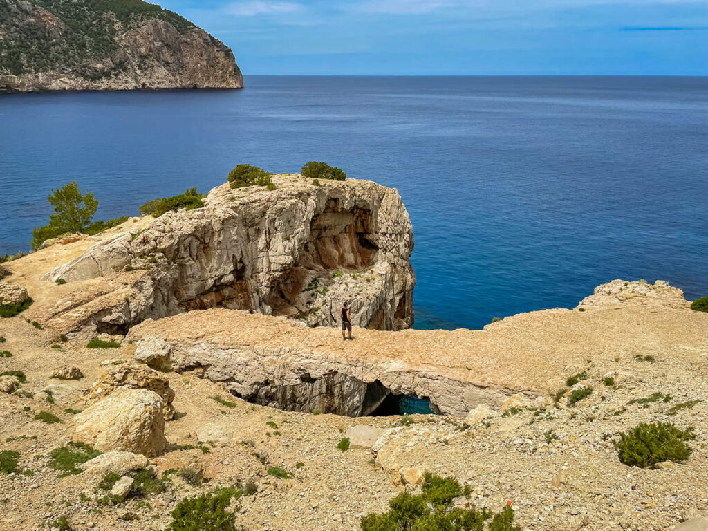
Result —
<svg viewBox="0 0 708 531"><path fill-rule="evenodd" d="M228 510L238 489L216 489L196 498L185 498L172 511L169 531L234 531L235 515Z"/></svg>

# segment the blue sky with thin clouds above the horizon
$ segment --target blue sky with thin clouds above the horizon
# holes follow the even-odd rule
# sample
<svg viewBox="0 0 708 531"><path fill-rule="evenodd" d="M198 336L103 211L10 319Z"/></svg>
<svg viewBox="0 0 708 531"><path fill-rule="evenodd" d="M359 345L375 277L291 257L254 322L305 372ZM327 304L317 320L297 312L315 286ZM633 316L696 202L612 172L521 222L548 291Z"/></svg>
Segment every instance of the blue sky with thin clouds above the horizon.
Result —
<svg viewBox="0 0 708 531"><path fill-rule="evenodd" d="M226 42L246 75L708 75L708 0L159 3Z"/></svg>

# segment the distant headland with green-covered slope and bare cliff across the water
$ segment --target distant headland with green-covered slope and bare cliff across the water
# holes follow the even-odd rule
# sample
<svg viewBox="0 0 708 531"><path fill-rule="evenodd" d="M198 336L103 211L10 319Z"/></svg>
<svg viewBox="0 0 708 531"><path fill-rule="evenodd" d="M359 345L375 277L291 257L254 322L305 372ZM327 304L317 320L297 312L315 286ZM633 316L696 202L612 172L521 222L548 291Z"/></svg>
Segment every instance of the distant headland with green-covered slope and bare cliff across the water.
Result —
<svg viewBox="0 0 708 531"><path fill-rule="evenodd" d="M243 86L229 47L159 6L0 0L0 92Z"/></svg>

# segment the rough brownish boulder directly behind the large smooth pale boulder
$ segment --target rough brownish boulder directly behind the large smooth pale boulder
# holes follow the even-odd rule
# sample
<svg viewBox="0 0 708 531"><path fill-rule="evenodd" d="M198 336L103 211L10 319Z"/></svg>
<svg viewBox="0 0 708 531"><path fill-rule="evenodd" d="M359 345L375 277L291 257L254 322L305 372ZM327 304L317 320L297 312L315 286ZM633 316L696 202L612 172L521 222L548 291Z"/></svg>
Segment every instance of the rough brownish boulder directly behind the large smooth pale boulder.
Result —
<svg viewBox="0 0 708 531"><path fill-rule="evenodd" d="M99 400L115 392L116 389L149 389L160 395L163 404L163 414L166 420L170 420L174 415L172 401L175 392L170 387L169 379L161 373L152 370L146 365L137 362L127 362L116 365L106 371L91 385L89 401Z"/></svg>

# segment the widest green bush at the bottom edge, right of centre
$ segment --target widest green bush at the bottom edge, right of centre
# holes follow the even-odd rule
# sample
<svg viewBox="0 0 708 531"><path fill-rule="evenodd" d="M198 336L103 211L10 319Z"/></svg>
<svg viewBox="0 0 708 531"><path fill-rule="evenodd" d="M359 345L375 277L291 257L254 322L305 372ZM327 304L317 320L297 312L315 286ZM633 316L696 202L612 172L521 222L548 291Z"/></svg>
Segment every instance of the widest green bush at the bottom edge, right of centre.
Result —
<svg viewBox="0 0 708 531"><path fill-rule="evenodd" d="M427 486L426 486L427 485ZM408 491L389 501L389 511L371 513L361 520L362 531L520 531L514 525L514 511L506 507L496 515L489 509L453 508L452 499L464 493L452 478L426 474L423 492L413 496ZM431 504L433 510L430 510Z"/></svg>

